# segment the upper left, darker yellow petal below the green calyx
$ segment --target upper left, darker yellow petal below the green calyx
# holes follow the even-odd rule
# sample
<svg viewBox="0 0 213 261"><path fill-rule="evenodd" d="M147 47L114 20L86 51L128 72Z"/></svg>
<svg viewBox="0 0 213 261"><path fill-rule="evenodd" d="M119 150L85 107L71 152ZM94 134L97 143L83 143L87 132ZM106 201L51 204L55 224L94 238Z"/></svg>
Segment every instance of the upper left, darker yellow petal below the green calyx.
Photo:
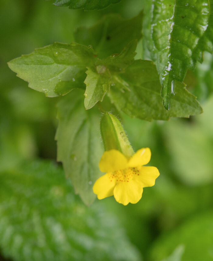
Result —
<svg viewBox="0 0 213 261"><path fill-rule="evenodd" d="M115 149L105 151L99 162L99 169L102 172L113 172L119 169L125 169L126 166L127 158Z"/></svg>

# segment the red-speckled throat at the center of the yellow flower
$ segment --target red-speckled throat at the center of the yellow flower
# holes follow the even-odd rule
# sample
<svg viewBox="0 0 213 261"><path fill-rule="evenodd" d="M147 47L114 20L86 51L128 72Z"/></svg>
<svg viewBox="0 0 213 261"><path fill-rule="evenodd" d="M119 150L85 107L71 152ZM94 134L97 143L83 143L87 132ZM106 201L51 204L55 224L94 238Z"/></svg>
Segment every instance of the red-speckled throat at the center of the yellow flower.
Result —
<svg viewBox="0 0 213 261"><path fill-rule="evenodd" d="M137 168L120 169L109 173L110 181L115 180L116 182L129 182L134 175L139 176Z"/></svg>

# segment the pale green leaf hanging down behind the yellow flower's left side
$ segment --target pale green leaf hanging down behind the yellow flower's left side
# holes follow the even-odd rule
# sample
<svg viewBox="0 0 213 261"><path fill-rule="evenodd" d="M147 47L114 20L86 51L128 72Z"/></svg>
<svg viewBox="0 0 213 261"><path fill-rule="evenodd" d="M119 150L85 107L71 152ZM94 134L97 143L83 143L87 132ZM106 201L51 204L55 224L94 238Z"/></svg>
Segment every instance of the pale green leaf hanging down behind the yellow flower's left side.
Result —
<svg viewBox="0 0 213 261"><path fill-rule="evenodd" d="M96 197L93 184L102 175L98 168L103 153L100 112L96 107L86 111L83 91L75 89L59 101L57 118L58 161L63 163L75 193L89 205Z"/></svg>

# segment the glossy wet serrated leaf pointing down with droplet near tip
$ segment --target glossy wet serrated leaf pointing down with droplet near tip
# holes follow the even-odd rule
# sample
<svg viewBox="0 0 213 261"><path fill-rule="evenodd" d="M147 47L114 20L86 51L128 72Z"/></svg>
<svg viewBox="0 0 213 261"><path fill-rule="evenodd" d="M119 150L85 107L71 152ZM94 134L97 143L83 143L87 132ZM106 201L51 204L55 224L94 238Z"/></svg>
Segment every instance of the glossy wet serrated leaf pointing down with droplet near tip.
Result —
<svg viewBox="0 0 213 261"><path fill-rule="evenodd" d="M194 69L199 58L197 48L207 30L209 1L155 0L147 8L146 46L156 61L163 104L169 110L176 81L183 82L187 68Z"/></svg>

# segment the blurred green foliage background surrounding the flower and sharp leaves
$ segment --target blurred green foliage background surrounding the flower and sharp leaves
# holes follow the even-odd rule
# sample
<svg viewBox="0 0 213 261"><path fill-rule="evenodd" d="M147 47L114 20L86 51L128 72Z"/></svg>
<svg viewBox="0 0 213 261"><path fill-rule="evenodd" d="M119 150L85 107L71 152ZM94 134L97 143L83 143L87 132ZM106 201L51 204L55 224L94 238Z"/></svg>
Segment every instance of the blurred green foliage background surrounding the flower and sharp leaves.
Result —
<svg viewBox="0 0 213 261"><path fill-rule="evenodd" d="M204 113L145 122L122 116L135 150L149 147L160 176L138 204L113 197L90 206L74 195L56 163L55 104L28 88L7 62L55 41L70 43L81 25L105 13L130 18L145 1L122 0L101 11L51 1L2 0L0 41L0 260L213 260L213 60L185 83ZM137 58L142 55L138 44Z"/></svg>

